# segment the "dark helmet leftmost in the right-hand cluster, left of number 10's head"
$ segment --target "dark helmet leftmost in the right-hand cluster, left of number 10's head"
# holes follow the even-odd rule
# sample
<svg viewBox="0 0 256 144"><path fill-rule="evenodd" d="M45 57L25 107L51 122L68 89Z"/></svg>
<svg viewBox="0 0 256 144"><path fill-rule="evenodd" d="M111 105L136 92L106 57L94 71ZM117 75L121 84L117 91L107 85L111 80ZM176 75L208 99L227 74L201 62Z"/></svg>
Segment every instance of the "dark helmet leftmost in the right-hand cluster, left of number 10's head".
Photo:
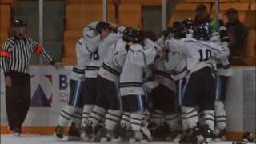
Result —
<svg viewBox="0 0 256 144"><path fill-rule="evenodd" d="M186 27L183 25L182 21L174 22L173 31L175 39L186 38Z"/></svg>

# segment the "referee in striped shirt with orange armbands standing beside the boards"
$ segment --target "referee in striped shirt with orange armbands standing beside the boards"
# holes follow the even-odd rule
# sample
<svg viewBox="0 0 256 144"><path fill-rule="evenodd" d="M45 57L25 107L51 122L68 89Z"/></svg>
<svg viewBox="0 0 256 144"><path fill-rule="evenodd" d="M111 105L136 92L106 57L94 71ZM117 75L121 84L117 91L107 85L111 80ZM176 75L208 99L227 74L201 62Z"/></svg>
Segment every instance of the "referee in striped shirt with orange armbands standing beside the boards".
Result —
<svg viewBox="0 0 256 144"><path fill-rule="evenodd" d="M22 133L22 123L30 107L29 65L32 54L60 67L38 42L26 36L27 23L14 20L14 36L6 40L0 50L0 67L5 74L6 110L9 128L14 136Z"/></svg>

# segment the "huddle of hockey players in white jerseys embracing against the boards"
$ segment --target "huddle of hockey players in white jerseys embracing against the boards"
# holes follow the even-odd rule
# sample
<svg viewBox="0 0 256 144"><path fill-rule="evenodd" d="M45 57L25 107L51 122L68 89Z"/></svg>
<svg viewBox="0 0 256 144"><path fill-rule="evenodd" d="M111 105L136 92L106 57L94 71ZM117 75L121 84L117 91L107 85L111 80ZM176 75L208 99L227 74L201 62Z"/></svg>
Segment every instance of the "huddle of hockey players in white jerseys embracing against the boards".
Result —
<svg viewBox="0 0 256 144"><path fill-rule="evenodd" d="M76 45L55 137L71 123L70 140L83 142L225 138L229 37L217 23L213 30L209 22L180 20L153 42L138 28L91 22Z"/></svg>

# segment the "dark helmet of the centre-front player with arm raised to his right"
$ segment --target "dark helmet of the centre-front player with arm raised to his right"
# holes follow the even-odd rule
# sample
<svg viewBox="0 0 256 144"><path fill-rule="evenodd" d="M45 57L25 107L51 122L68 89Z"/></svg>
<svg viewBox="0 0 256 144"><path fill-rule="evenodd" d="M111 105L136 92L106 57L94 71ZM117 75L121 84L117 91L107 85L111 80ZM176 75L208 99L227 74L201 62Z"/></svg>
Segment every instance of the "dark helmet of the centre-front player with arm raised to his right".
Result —
<svg viewBox="0 0 256 144"><path fill-rule="evenodd" d="M143 39L142 30L128 27L124 30L122 39L125 42L140 43Z"/></svg>

